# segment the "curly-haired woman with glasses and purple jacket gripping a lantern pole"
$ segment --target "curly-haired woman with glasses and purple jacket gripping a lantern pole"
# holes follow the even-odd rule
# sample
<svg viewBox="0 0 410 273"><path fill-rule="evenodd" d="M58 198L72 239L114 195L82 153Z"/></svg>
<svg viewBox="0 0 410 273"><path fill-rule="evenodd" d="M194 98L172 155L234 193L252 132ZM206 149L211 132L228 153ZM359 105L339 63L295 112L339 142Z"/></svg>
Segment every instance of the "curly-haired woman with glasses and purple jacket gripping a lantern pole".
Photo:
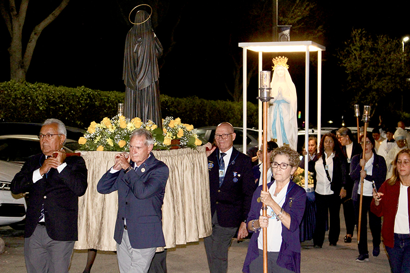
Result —
<svg viewBox="0 0 410 273"><path fill-rule="evenodd" d="M299 154L282 146L272 153L272 173L275 179L268 183L268 192L259 186L252 198L248 215L248 230L253 232L248 246L243 272L263 272L263 235L268 231L268 272L300 272L299 225L306 204L305 190L291 177L299 165ZM262 202L268 207L262 216Z"/></svg>

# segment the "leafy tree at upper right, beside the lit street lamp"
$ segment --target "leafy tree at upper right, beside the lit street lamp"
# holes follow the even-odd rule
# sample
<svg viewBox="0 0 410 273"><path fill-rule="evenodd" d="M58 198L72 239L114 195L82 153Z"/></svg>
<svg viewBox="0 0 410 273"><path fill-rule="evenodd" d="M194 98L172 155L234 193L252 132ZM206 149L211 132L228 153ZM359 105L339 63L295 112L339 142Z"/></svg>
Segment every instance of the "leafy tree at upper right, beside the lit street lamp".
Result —
<svg viewBox="0 0 410 273"><path fill-rule="evenodd" d="M342 88L344 97L351 98L347 103L370 105L372 115L381 102L387 104L406 88L409 73L400 40L356 29L338 58L347 76Z"/></svg>

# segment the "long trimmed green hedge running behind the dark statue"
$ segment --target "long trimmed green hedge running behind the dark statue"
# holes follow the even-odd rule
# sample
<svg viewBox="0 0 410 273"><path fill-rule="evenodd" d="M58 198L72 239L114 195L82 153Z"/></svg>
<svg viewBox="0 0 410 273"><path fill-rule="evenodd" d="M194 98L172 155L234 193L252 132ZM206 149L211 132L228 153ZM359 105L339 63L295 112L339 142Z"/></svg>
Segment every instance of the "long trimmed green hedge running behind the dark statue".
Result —
<svg viewBox="0 0 410 273"><path fill-rule="evenodd" d="M161 95L162 118L179 117L195 128L229 121L242 126L242 102L173 98ZM124 93L86 87L56 87L46 83L0 82L0 119L9 122L37 122L58 118L67 126L87 128L91 121L113 117ZM257 127L258 106L247 103L248 128Z"/></svg>

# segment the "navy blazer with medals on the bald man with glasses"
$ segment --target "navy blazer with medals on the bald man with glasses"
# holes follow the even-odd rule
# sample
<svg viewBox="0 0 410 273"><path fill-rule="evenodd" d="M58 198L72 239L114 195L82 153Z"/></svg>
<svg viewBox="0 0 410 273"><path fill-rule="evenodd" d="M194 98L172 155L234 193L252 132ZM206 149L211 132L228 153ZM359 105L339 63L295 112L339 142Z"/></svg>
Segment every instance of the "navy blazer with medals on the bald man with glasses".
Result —
<svg viewBox="0 0 410 273"><path fill-rule="evenodd" d="M247 219L256 188L251 158L233 148L223 183L219 187L218 155L217 148L208 157L211 215L216 211L220 226L238 227Z"/></svg>

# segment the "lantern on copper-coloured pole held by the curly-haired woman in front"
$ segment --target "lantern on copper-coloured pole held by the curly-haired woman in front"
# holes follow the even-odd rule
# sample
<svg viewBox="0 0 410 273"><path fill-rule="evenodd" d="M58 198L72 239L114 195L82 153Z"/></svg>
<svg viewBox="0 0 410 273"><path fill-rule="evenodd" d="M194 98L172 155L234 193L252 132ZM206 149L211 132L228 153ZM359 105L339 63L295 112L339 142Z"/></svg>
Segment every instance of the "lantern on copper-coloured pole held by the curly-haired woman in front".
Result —
<svg viewBox="0 0 410 273"><path fill-rule="evenodd" d="M268 158L268 145L267 145L267 132L268 132L268 102L273 99L271 97L271 71L260 71L260 82L259 82L259 99L262 101L262 110L263 110L263 134L262 137L262 154L263 154L263 174L262 174L262 189L263 191L268 191L267 183L267 173L268 173L268 164L270 160ZM267 216L266 211L268 207L265 203L262 202L262 215ZM268 229L266 227L262 228L263 232L263 272L268 272Z"/></svg>

